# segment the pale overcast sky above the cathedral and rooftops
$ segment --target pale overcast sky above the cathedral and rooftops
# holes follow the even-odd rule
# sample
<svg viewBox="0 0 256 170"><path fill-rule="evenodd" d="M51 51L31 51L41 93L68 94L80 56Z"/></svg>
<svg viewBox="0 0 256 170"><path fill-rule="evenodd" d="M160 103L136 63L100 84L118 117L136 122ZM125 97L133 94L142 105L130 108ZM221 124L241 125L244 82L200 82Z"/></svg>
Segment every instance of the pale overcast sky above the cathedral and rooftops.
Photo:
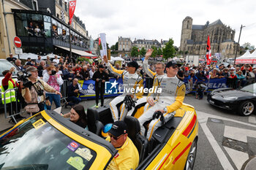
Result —
<svg viewBox="0 0 256 170"><path fill-rule="evenodd" d="M243 25L240 45L249 42L256 47L255 9L255 0L77 0L75 15L83 20L89 36L97 39L105 33L110 46L122 36L132 42L135 38L159 42L173 38L179 47L182 21L189 16L193 25L220 19L236 30L236 42Z"/></svg>

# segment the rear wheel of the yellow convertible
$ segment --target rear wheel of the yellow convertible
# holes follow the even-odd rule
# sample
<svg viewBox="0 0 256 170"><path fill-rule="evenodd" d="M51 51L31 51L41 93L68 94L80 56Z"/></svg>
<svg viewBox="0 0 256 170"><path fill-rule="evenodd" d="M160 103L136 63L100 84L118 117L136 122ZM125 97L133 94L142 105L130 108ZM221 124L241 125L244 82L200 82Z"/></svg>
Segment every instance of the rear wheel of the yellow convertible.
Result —
<svg viewBox="0 0 256 170"><path fill-rule="evenodd" d="M186 165L184 170L192 170L195 163L195 156L197 155L197 139L195 139L190 147L189 155L187 155Z"/></svg>

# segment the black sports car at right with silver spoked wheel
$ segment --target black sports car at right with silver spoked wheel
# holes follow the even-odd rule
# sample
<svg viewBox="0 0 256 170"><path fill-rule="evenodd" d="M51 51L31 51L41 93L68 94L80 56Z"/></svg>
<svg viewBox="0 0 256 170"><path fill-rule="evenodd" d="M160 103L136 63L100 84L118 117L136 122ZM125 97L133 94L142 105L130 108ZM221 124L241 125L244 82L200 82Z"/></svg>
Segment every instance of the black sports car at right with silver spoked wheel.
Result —
<svg viewBox="0 0 256 170"><path fill-rule="evenodd" d="M219 88L208 94L209 104L222 109L233 110L240 115L249 116L255 112L256 83L241 89Z"/></svg>

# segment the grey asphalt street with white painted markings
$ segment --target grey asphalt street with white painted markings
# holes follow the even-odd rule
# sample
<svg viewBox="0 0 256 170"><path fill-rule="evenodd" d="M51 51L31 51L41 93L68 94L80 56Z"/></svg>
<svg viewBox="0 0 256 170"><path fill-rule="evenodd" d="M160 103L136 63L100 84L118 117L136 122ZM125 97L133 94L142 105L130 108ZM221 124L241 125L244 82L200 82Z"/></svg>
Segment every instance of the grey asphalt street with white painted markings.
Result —
<svg viewBox="0 0 256 170"><path fill-rule="evenodd" d="M113 98L105 98L105 106ZM256 115L242 117L235 112L213 107L195 96L186 96L184 103L195 107L199 122L199 140L194 169L221 170L244 169L256 155ZM95 108L95 101L83 101L86 108ZM53 107L54 108L54 107ZM69 112L70 107L62 108ZM3 112L3 111L1 111ZM29 117L26 113L23 116ZM0 131L10 128L8 118L0 114Z"/></svg>

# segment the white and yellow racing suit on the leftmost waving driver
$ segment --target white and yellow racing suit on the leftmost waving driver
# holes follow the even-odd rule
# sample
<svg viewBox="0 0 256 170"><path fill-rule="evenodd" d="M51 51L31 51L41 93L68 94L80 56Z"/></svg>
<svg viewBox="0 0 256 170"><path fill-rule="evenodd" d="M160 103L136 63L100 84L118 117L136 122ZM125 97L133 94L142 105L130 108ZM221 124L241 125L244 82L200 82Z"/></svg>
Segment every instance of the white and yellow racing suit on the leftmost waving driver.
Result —
<svg viewBox="0 0 256 170"><path fill-rule="evenodd" d="M120 104L121 102L124 102L124 98L127 95L133 95L134 101L137 101L139 98L141 98L143 95L143 79L137 73L129 74L129 72L125 70L118 70L113 68L113 66L110 63L106 63L106 65L108 66L108 69L110 70L110 72L112 72L113 74L116 74L119 77L122 77L123 79L123 87L125 91L121 96L117 96L116 98L113 99L113 101L110 102L110 111L114 121L124 120L124 117L126 115L132 115L135 108L132 107L132 109L129 110L128 112L128 110L125 108L125 105L123 104L121 107L120 117L118 117L117 105ZM127 92L127 90L131 90L132 88L135 89L135 93L131 93L131 91ZM141 90L136 91L138 88ZM135 107L138 104L140 103L139 102L135 103Z"/></svg>

